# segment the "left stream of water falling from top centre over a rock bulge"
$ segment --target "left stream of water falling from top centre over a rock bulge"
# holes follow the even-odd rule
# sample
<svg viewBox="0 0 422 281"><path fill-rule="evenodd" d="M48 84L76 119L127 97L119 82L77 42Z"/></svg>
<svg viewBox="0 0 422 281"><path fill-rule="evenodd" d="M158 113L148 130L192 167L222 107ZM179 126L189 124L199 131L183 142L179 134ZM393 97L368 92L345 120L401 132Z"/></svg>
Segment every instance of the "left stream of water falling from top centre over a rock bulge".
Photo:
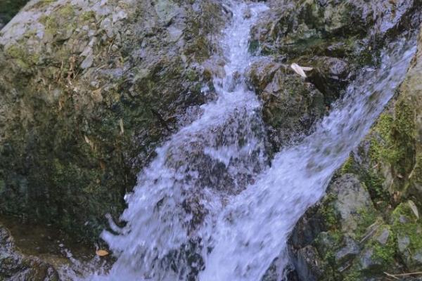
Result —
<svg viewBox="0 0 422 281"><path fill-rule="evenodd" d="M202 268L200 230L216 218L229 195L236 195L268 165L260 102L243 73L250 27L264 4L230 1L232 24L224 31L225 77L214 79L217 100L201 117L157 150L139 174L122 214L127 226L102 237L118 255L98 280L188 280ZM206 217L206 218L205 218Z"/></svg>

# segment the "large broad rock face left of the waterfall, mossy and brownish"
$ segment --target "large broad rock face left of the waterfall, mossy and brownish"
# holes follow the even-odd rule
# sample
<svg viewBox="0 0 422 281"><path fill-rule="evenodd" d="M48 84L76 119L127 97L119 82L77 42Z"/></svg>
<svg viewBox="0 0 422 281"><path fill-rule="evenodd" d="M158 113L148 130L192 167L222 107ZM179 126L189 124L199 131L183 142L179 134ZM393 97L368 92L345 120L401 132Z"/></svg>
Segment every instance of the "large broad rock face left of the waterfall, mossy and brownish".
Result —
<svg viewBox="0 0 422 281"><path fill-rule="evenodd" d="M94 2L33 1L0 33L0 212L90 240L212 98L218 70L200 63L229 17L217 1Z"/></svg>

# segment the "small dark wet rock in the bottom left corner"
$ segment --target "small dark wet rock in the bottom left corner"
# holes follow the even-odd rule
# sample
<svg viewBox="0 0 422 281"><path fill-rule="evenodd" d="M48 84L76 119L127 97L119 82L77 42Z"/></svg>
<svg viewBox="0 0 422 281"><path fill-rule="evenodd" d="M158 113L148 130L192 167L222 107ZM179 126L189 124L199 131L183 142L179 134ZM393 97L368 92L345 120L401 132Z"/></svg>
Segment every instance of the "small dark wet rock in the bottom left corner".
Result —
<svg viewBox="0 0 422 281"><path fill-rule="evenodd" d="M11 233L0 224L0 279L8 281L58 281L53 266L32 256L20 254Z"/></svg>

